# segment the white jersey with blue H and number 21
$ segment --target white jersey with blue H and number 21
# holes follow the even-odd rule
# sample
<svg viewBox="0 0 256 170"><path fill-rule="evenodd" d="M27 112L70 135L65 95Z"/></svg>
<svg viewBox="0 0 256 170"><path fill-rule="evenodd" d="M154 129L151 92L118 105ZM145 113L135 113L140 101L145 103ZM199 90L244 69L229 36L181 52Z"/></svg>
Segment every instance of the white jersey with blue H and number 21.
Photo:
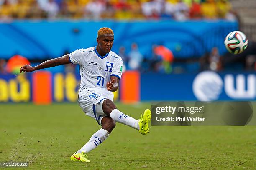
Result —
<svg viewBox="0 0 256 170"><path fill-rule="evenodd" d="M113 93L107 90L110 76L121 79L123 60L115 52L110 51L105 56L100 56L96 47L75 50L69 54L73 64L80 65L80 89L92 90L113 100Z"/></svg>

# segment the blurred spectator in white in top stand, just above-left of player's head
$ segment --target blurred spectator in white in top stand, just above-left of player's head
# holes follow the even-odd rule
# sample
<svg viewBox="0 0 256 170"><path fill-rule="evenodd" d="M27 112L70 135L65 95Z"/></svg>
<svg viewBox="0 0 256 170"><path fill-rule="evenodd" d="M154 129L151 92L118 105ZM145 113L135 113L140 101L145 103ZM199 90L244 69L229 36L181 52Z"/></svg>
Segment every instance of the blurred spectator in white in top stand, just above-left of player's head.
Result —
<svg viewBox="0 0 256 170"><path fill-rule="evenodd" d="M101 14L106 9L106 3L104 0L92 0L85 7L85 17L92 18L94 20L99 20L101 18Z"/></svg>

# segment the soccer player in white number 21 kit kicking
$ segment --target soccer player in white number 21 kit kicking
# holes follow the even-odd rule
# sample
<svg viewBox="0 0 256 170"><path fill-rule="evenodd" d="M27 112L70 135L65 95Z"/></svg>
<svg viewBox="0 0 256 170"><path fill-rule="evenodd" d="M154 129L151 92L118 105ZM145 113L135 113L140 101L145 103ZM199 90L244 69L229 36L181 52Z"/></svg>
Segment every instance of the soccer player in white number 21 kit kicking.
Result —
<svg viewBox="0 0 256 170"><path fill-rule="evenodd" d="M139 133L149 132L148 122L151 111L146 109L139 120L134 119L117 109L113 103L113 93L118 90L122 76L123 61L110 51L114 42L114 33L110 28L100 28L97 46L74 52L59 58L47 60L35 67L24 65L21 72L32 72L43 68L64 64L79 64L81 84L78 102L84 113L97 121L102 127L95 132L90 140L77 152L71 155L73 161L90 162L86 153L100 145L115 128L115 122L128 125Z"/></svg>

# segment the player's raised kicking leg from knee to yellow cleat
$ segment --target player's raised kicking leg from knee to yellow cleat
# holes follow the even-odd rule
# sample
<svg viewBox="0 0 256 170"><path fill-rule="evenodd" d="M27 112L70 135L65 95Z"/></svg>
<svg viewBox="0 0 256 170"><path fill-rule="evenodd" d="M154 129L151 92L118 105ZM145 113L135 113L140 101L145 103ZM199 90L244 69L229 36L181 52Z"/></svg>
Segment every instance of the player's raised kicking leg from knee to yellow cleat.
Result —
<svg viewBox="0 0 256 170"><path fill-rule="evenodd" d="M151 119L151 111L146 109L143 116L141 115L139 120L134 119L128 115L125 115L123 112L120 112L115 104L107 99L102 104L103 112L116 122L128 125L134 129L137 129L139 133L146 135L149 132L148 123Z"/></svg>

